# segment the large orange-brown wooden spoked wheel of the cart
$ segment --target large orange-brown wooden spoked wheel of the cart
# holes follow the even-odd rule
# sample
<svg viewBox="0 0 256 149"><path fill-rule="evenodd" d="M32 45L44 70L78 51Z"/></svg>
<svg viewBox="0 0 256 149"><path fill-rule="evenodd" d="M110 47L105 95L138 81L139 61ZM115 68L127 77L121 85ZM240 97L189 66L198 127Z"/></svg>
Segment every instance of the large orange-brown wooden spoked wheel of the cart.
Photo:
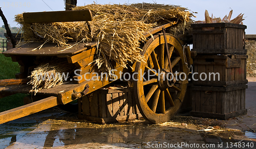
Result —
<svg viewBox="0 0 256 149"><path fill-rule="evenodd" d="M137 105L143 117L153 123L165 122L174 116L187 87L188 69L182 45L171 34L166 34L166 39L172 70L169 68L163 34L157 34L145 43L141 52L145 62L137 63L135 68ZM177 80L170 78L172 72Z"/></svg>

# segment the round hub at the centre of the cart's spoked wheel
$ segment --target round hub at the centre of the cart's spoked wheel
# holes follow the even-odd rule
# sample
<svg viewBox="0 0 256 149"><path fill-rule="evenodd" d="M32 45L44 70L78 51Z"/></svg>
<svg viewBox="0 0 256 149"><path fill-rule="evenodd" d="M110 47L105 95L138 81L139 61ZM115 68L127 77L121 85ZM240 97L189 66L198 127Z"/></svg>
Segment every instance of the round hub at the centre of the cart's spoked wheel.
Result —
<svg viewBox="0 0 256 149"><path fill-rule="evenodd" d="M158 77L158 86L161 90L174 86L176 79L168 69L161 69Z"/></svg>

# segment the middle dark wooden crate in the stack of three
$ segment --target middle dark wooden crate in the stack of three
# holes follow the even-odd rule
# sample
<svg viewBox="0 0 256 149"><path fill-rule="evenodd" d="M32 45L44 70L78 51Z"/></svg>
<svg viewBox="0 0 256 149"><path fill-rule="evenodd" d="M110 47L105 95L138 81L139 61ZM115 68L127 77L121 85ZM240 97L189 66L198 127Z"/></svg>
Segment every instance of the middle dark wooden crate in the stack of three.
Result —
<svg viewBox="0 0 256 149"><path fill-rule="evenodd" d="M198 55L194 60L193 84L204 86L232 86L238 84L247 84L246 80L246 59L247 55ZM205 79L205 74L207 79ZM219 72L218 75L209 73ZM198 79L198 81L196 81ZM214 81L215 79L215 81Z"/></svg>

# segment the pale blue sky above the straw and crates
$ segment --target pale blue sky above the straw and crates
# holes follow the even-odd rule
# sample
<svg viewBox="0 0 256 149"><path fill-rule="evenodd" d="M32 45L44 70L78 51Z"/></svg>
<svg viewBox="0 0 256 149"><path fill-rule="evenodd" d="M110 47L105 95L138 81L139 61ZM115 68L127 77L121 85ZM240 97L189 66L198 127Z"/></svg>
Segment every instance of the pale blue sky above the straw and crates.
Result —
<svg viewBox="0 0 256 149"><path fill-rule="evenodd" d="M92 3L97 4L132 4L132 3L157 3L157 4L168 4L168 5L179 5L185 7L191 12L198 12L193 17L193 20L204 20L204 12L207 10L209 15L213 14L215 17L223 18L228 15L229 11L232 9L232 18L238 16L240 13L244 14L245 20L244 25L247 26L245 30L246 34L256 34L256 12L255 0L180 0L180 1L164 1L164 0L77 0L77 6L84 6ZM49 6L49 7L48 7ZM11 27L18 27L17 23L14 21L14 15L23 12L40 12L40 11L61 11L65 10L65 2L63 0L19 0L19 1L7 1L1 0L0 7L7 18L8 23ZM4 25L4 22L0 20L0 27Z"/></svg>

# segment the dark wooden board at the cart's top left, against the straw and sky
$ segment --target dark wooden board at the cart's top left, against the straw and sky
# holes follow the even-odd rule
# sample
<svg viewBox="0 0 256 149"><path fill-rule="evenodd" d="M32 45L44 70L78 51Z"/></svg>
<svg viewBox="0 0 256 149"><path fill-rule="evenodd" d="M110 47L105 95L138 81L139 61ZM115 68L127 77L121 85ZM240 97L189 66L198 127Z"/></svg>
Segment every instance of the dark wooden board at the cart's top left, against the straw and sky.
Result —
<svg viewBox="0 0 256 149"><path fill-rule="evenodd" d="M91 21L91 10L69 10L23 13L26 23Z"/></svg>

